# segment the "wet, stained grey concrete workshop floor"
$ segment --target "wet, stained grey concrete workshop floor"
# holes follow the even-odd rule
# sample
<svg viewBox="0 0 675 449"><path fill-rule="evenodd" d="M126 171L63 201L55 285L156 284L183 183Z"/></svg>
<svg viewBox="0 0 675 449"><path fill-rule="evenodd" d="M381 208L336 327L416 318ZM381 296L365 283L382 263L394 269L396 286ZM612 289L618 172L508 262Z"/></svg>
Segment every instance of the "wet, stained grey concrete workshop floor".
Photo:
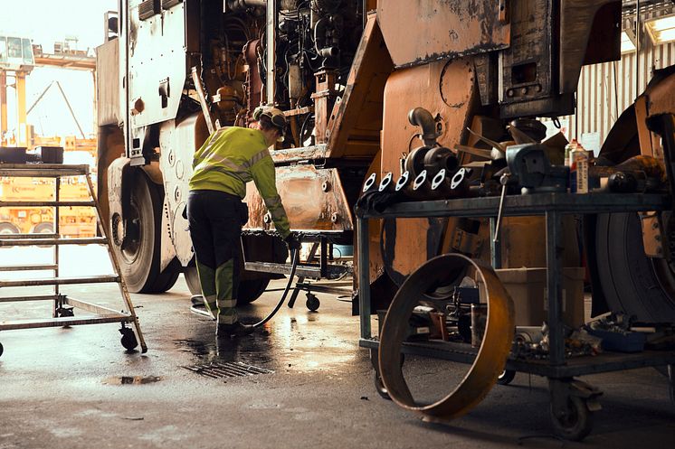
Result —
<svg viewBox="0 0 675 449"><path fill-rule="evenodd" d="M44 251L11 248L0 250L0 257L2 263L10 257L35 263ZM106 269L102 256L98 248L72 248L64 258L82 273ZM63 290L119 304L114 286ZM265 294L242 308L244 321L265 314L278 295ZM544 436L525 440L524 447L675 445L675 405L666 379L653 369L584 378L604 390L604 410L595 414L594 432L582 444L546 436L546 382L524 374L493 388L452 425L425 424L379 398L367 353L357 347L357 317L350 316L348 303L319 297L318 313L299 301L252 337L218 342L214 324L189 313L181 278L165 295L133 295L149 348L143 355L122 350L116 324L2 332L0 449L484 448L516 446L528 435ZM0 304L2 321L48 313L46 304ZM274 372L223 380L181 368L233 360ZM457 367L419 360L410 365L419 379L435 379L447 369L450 382L457 381ZM157 381L120 384L121 377L137 376Z"/></svg>

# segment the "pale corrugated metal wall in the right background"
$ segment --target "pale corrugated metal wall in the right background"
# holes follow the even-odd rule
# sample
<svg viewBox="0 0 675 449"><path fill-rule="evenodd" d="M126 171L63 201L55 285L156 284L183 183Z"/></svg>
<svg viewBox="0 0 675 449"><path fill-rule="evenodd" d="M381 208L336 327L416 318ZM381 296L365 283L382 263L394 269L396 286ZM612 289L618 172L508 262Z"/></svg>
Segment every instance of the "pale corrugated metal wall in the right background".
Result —
<svg viewBox="0 0 675 449"><path fill-rule="evenodd" d="M643 19L662 14L644 14ZM675 42L653 46L649 35L644 33L641 45L639 56L632 51L623 54L621 61L582 68L577 89L577 113L561 117L568 139L583 142L593 136L604 142L617 117L647 87L653 70L675 64Z"/></svg>

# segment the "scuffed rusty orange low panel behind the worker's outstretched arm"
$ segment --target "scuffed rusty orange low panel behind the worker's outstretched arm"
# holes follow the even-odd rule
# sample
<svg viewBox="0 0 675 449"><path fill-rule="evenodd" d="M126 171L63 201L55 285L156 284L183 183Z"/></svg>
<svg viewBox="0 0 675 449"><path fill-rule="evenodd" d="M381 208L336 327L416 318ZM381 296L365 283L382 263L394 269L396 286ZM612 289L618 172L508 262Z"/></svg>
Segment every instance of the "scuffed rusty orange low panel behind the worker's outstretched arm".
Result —
<svg viewBox="0 0 675 449"><path fill-rule="evenodd" d="M294 231L351 231L354 221L338 169L313 165L277 167L277 189ZM273 230L255 185L246 184L249 222L246 229Z"/></svg>

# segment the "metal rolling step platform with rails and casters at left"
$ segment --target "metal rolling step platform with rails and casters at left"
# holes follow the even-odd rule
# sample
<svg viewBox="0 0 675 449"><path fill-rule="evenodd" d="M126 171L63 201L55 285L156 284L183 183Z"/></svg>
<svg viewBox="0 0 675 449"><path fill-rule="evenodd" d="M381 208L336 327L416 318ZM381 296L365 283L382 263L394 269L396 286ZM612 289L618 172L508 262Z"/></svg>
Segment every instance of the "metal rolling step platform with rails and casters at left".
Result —
<svg viewBox="0 0 675 449"><path fill-rule="evenodd" d="M0 176L8 177L31 177L31 178L52 178L54 182L54 201L0 201L0 208L11 206L24 207L52 207L54 208L54 225L52 234L3 234L0 235L0 247L53 247L53 261L49 264L28 265L28 266L0 266L0 272L17 271L52 271L53 277L39 279L16 279L0 280L2 287L26 287L39 285L52 285L52 295L27 295L0 297L0 303L15 303L26 301L51 301L52 318L41 320L0 320L0 331L10 331L15 329L33 329L39 327L60 327L77 326L82 324L101 324L101 323L120 323L121 343L127 350L133 350L140 343L141 351L146 352L146 341L138 324L138 317L134 310L134 304L128 294L127 285L120 276L121 271L118 259L112 249L112 240L106 229L102 225L102 215L100 203L97 200L96 192L90 178L89 165L64 165L64 164L0 164ZM83 176L87 182L90 200L62 201L60 198L61 178L69 176ZM62 207L92 207L96 210L98 229L102 237L93 238L65 238L60 234L59 229L59 208ZM108 249L110 261L115 274L109 276L77 276L63 277L59 276L60 254L59 248L62 245L104 245ZM84 262L84 261L82 261ZM76 284L100 284L117 283L119 293L122 296L126 311L119 311L100 304L93 304L87 301L72 298L63 295L61 285ZM85 312L94 313L93 316L77 317L75 310L80 309ZM133 326L128 327L128 324ZM136 333L134 333L134 330ZM137 338L138 337L138 338ZM3 347L0 344L0 355Z"/></svg>

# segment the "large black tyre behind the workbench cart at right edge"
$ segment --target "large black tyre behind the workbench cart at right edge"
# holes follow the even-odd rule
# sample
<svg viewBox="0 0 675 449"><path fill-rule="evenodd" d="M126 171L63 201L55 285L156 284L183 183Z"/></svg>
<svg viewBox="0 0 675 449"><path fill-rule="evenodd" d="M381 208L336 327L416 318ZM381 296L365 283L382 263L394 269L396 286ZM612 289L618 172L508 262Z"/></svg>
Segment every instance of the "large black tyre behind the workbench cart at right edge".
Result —
<svg viewBox="0 0 675 449"><path fill-rule="evenodd" d="M645 256L637 214L598 215L595 232L599 281L610 311L642 322L675 322L675 271L666 259Z"/></svg>

